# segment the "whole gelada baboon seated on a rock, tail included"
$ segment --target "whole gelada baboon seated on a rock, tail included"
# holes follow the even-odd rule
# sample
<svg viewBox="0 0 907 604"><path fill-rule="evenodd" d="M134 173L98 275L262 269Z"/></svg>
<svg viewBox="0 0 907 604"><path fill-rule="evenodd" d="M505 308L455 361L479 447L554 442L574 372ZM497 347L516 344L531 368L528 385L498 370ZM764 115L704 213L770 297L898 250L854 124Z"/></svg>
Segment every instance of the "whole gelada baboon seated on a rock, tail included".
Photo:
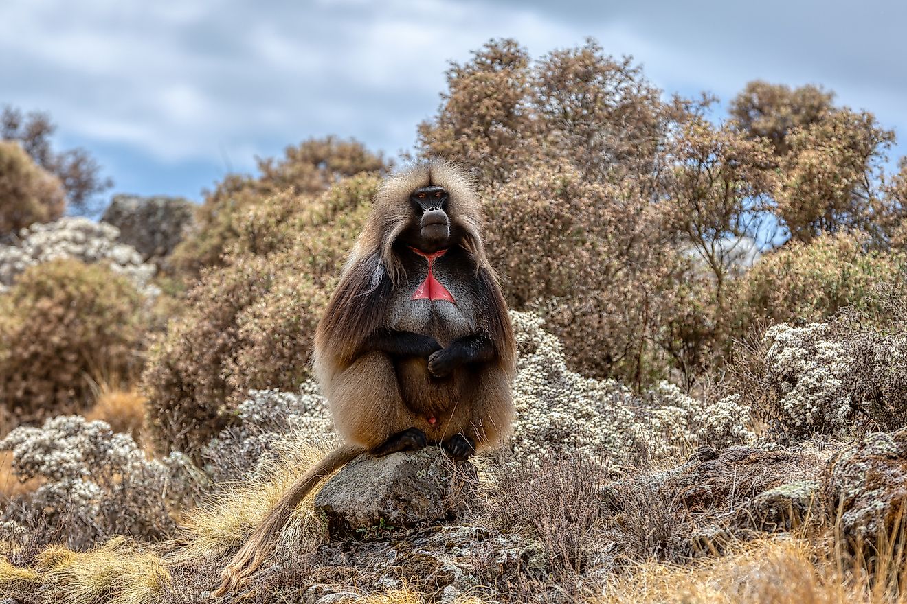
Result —
<svg viewBox="0 0 907 604"><path fill-rule="evenodd" d="M356 455L438 443L455 459L511 426L515 346L483 247L481 202L451 164L389 177L315 336L337 448L293 484L222 573L222 595L261 564L297 504Z"/></svg>

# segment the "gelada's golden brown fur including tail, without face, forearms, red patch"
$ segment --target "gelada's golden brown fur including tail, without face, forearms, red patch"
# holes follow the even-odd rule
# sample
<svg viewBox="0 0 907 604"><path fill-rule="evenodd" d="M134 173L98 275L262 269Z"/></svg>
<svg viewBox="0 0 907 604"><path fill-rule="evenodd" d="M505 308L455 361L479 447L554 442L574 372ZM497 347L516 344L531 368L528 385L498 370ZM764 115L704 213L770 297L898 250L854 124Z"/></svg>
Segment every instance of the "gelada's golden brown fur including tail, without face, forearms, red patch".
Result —
<svg viewBox="0 0 907 604"><path fill-rule="evenodd" d="M414 220L410 194L429 185L444 187L449 194L447 214L451 232L457 234L454 247L460 249L448 254L438 274L450 284L454 304L410 302L411 273L424 271L424 261L403 258L397 243ZM321 478L356 455L409 428L421 429L430 443L462 435L479 450L506 436L512 421L516 350L507 307L485 256L481 210L470 179L437 160L399 172L380 188L315 337L317 380L346 446L289 489L223 571L223 583L214 595L247 578L273 551L297 504ZM483 333L493 342L494 359L434 379L425 358L392 358L364 348L369 335L383 329L431 336L444 348L456 338Z"/></svg>

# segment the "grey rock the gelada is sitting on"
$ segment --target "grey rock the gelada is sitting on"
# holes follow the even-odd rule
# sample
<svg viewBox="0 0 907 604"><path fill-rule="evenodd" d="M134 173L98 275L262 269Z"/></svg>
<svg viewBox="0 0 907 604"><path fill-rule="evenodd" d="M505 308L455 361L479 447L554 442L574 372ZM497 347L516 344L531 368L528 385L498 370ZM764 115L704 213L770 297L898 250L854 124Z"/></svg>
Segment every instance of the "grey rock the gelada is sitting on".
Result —
<svg viewBox="0 0 907 604"><path fill-rule="evenodd" d="M325 484L315 508L330 534L414 527L456 514L474 496L475 467L440 448L360 455Z"/></svg>

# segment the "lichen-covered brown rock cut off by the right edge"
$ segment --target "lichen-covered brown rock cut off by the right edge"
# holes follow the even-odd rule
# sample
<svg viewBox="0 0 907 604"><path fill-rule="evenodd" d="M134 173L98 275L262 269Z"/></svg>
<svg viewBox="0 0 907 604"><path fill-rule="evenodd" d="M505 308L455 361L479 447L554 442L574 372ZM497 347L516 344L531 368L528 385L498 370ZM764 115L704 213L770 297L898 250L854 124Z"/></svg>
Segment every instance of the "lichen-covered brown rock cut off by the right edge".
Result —
<svg viewBox="0 0 907 604"><path fill-rule="evenodd" d="M907 501L907 427L844 447L825 468L822 495L826 517L846 537L892 534Z"/></svg>

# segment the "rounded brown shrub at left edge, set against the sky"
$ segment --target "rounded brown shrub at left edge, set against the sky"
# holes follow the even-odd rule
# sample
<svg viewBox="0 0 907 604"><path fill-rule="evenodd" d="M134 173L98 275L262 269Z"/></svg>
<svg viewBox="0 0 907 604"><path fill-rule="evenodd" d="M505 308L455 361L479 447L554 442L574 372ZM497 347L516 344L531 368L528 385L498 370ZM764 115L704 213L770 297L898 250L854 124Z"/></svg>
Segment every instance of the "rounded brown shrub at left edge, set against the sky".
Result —
<svg viewBox="0 0 907 604"><path fill-rule="evenodd" d="M34 164L18 143L0 140L0 237L63 216L60 180Z"/></svg>

